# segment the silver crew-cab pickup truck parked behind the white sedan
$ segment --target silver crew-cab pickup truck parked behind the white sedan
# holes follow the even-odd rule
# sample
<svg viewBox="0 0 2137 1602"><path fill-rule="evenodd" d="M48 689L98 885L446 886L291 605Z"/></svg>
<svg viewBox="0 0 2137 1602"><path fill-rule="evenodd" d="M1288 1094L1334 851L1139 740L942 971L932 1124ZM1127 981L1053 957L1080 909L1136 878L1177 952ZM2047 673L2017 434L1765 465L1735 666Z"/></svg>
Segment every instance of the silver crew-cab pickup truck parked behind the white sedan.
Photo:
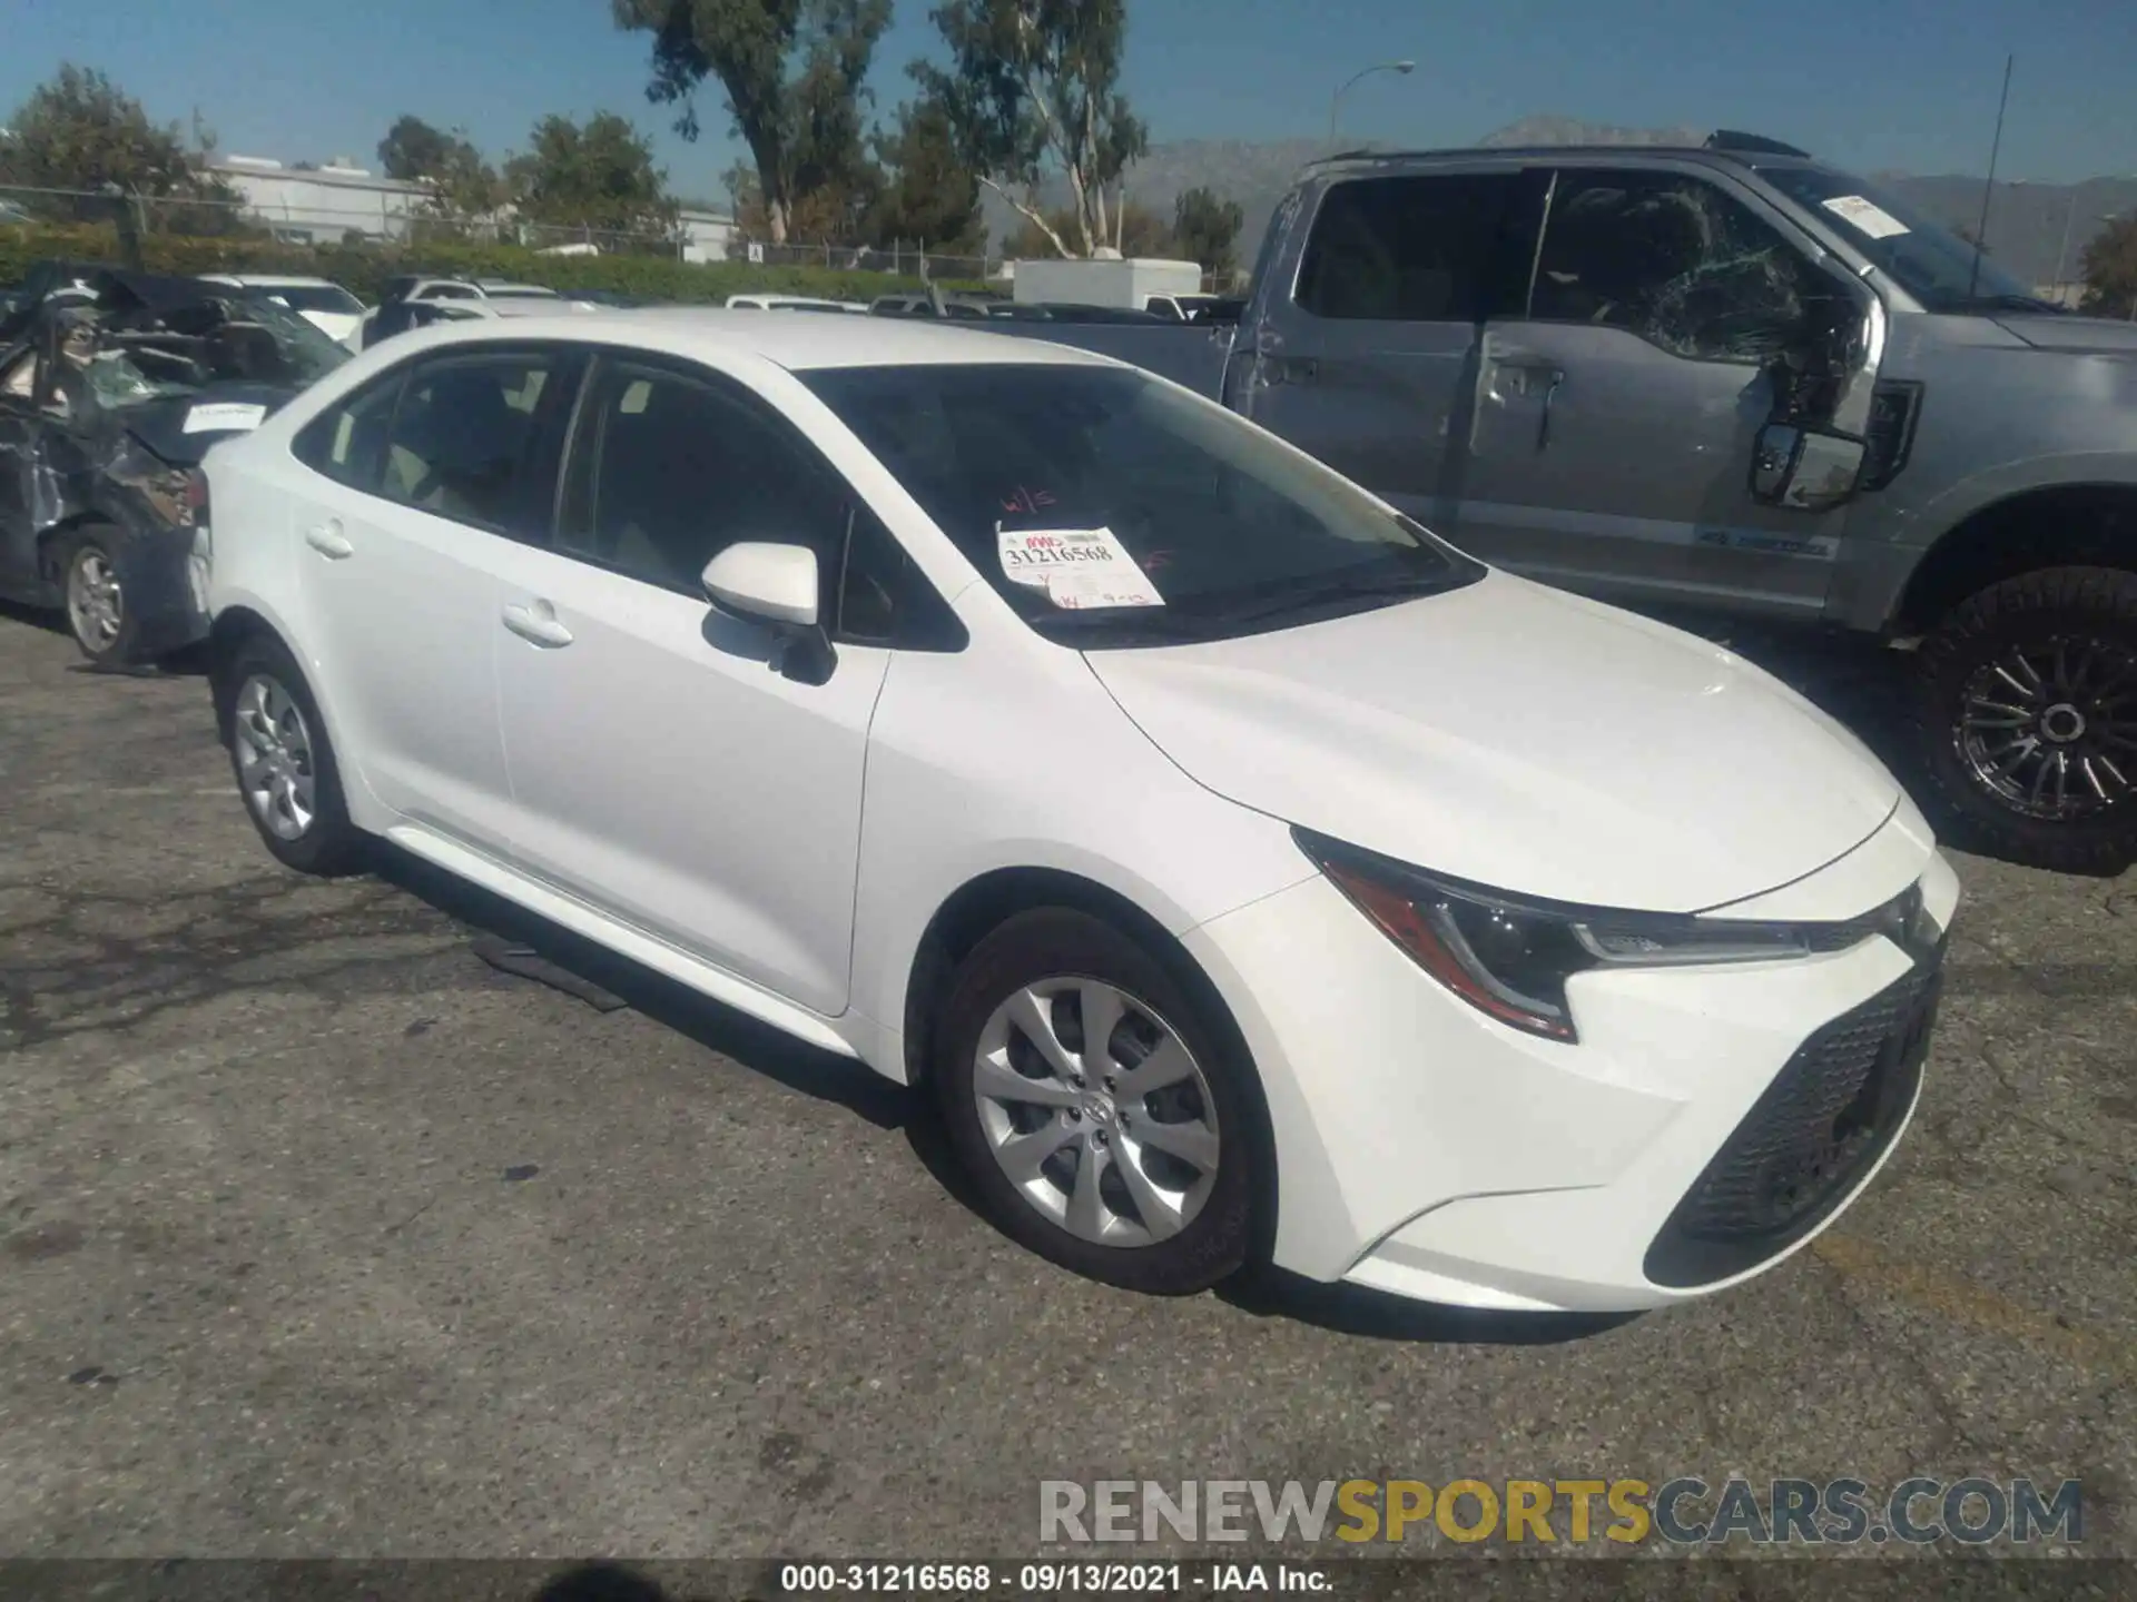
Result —
<svg viewBox="0 0 2137 1602"><path fill-rule="evenodd" d="M998 327L1214 395L1517 572L1878 634L1962 844L2137 850L2137 325L1872 182L1750 135L1340 156L1237 329Z"/></svg>

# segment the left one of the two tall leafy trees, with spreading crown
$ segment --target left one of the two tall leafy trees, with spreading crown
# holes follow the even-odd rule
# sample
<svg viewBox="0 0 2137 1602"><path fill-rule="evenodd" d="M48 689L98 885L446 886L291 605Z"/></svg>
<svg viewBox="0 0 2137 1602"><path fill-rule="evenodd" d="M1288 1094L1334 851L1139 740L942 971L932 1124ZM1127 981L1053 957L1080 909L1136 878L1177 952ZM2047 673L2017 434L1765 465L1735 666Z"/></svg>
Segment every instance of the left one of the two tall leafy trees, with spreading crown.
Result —
<svg viewBox="0 0 2137 1602"><path fill-rule="evenodd" d="M833 190L829 207L868 201L861 111L868 66L891 0L609 0L615 26L654 36L656 105L682 105L675 130L697 139L692 96L714 77L756 167L765 231L784 244L795 203ZM823 205L823 203L818 203Z"/></svg>

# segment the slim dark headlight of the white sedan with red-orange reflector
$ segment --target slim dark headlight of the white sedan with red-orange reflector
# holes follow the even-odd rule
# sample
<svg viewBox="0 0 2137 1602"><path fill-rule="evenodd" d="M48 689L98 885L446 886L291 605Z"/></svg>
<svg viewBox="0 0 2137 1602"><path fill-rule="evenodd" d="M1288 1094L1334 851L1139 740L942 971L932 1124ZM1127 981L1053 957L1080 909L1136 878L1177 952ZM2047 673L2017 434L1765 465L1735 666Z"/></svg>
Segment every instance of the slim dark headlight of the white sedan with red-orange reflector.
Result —
<svg viewBox="0 0 2137 1602"><path fill-rule="evenodd" d="M1891 923L1883 916L1887 908L1851 923L1750 923L1537 901L1428 874L1308 829L1291 833L1336 889L1432 978L1479 1012L1547 1040L1579 1038L1566 980L1590 968L1784 961L1844 951ZM1919 891L1913 895L1919 901Z"/></svg>

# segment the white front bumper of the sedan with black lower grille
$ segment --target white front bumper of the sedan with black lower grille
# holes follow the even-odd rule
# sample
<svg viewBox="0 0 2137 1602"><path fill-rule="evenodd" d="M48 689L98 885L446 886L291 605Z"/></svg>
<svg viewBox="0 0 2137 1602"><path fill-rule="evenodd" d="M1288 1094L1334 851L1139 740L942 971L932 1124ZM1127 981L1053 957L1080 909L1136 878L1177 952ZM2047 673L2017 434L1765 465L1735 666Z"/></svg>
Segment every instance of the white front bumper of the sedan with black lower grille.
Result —
<svg viewBox="0 0 2137 1602"><path fill-rule="evenodd" d="M1957 880L1925 844L1874 835L1801 884L1863 912L1915 878L1949 927ZM1539 1040L1440 989L1325 878L1186 944L1261 1070L1276 1262L1470 1307L1652 1307L1799 1250L1870 1183L1919 1089L1919 1042L1866 1064L1829 1036L1887 1012L1874 1047L1925 1034L1934 1008L1915 957L1872 936L1787 963L1579 974L1579 1045ZM1836 1156L1810 1164L1806 1200L1787 1175L1819 1119Z"/></svg>

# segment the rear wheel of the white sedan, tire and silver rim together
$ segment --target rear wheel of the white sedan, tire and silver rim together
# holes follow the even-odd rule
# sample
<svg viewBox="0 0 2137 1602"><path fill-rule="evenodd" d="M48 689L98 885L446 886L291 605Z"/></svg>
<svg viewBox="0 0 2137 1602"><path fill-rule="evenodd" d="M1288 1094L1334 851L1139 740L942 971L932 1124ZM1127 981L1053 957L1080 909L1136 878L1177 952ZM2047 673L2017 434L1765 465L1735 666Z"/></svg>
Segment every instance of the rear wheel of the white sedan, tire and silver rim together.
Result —
<svg viewBox="0 0 2137 1602"><path fill-rule="evenodd" d="M246 637L218 662L214 686L237 797L274 859L325 878L359 869L365 837L348 820L312 686L282 641Z"/></svg>

